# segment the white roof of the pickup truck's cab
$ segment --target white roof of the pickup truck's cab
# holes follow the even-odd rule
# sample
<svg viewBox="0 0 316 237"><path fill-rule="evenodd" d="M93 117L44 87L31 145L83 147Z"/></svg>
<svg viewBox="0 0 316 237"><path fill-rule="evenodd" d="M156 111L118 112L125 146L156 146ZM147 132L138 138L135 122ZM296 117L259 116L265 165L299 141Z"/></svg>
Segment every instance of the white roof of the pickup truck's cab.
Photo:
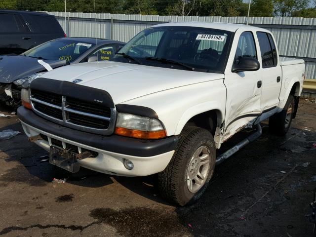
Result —
<svg viewBox="0 0 316 237"><path fill-rule="evenodd" d="M170 22L164 24L158 24L153 27L160 27L160 26L192 26L192 27L203 27L203 28L211 28L211 29L218 29L224 31L231 31L235 32L238 29L242 28L244 30L260 30L268 32L265 29L249 26L244 24L233 24L233 23L217 23L217 22L200 22L200 21L192 21L192 22Z"/></svg>

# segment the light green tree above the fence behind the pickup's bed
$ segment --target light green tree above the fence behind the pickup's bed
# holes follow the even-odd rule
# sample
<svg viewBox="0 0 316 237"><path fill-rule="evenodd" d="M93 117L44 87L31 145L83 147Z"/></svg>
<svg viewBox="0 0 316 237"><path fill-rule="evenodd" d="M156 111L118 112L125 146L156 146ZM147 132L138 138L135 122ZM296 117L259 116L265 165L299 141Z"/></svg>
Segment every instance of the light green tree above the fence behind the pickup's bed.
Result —
<svg viewBox="0 0 316 237"><path fill-rule="evenodd" d="M309 0L274 0L275 16L289 17L294 11L307 8Z"/></svg>

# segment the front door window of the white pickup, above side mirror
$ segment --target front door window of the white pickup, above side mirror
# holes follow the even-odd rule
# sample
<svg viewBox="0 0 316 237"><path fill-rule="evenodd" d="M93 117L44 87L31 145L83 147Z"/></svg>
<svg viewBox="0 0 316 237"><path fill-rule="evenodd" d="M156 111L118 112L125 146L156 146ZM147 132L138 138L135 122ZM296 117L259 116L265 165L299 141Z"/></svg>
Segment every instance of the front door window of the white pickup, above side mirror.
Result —
<svg viewBox="0 0 316 237"><path fill-rule="evenodd" d="M257 58L255 40L251 32L243 32L239 37L236 60L240 57Z"/></svg>

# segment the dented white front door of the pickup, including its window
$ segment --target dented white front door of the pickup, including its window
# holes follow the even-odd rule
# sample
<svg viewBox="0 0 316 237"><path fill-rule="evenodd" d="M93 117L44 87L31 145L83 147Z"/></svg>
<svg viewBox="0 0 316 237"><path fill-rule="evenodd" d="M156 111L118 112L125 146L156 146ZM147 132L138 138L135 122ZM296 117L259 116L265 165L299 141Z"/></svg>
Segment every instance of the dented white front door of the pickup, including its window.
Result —
<svg viewBox="0 0 316 237"><path fill-rule="evenodd" d="M236 32L231 55L225 70L227 89L225 129L222 142L260 115L261 77L259 71L232 72L232 66L241 57L257 59L254 33ZM236 38L238 40L236 40ZM233 56L233 57L232 57Z"/></svg>

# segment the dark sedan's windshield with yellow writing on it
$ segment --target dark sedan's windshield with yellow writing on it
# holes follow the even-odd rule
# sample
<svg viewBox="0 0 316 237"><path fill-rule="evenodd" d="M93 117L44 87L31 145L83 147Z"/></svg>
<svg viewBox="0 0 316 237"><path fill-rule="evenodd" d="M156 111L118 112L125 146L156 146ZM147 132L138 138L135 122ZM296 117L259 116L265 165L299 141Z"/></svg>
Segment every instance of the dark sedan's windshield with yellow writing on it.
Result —
<svg viewBox="0 0 316 237"><path fill-rule="evenodd" d="M81 54L91 48L94 44L84 43L78 40L52 40L32 48L23 56L34 57L46 60L74 61Z"/></svg>

